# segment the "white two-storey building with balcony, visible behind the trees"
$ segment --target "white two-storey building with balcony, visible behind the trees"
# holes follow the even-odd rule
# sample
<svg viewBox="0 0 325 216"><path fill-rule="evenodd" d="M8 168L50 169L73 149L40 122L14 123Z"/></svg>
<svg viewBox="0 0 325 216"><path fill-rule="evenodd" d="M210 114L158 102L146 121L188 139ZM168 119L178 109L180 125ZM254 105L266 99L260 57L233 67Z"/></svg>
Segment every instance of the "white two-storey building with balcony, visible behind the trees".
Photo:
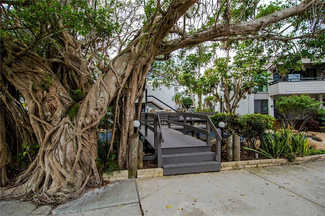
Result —
<svg viewBox="0 0 325 216"><path fill-rule="evenodd" d="M317 101L322 101L321 107L325 107L325 59L321 64L312 64L309 60L303 61L305 70L289 71L288 75L281 76L276 71L270 71L273 74L268 86L264 86L257 94L246 95L242 99L236 113L250 114L263 113L277 117L277 111L274 107L275 101L280 96L309 94ZM178 108L173 102L177 90L161 86L153 90L149 83L146 86L142 101L142 111L147 112L150 109L170 109L176 111ZM148 110L147 108L148 107ZM220 103L216 105L216 111L220 111Z"/></svg>

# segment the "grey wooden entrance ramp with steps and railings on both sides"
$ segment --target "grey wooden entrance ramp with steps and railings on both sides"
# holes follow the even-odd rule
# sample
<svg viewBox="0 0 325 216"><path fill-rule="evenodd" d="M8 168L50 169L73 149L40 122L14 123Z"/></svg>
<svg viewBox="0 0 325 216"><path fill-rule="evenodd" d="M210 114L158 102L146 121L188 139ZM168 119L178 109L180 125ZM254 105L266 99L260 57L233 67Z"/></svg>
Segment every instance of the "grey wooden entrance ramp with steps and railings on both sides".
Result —
<svg viewBox="0 0 325 216"><path fill-rule="evenodd" d="M143 160L157 160L158 167L164 169L164 175L220 171L220 132L215 128L211 129L218 135L217 152L215 153L211 151L212 145L209 139L210 125L212 124L210 118L207 115L193 113L182 114L197 119L206 118L205 127L207 129L187 125L186 120L184 122L176 122L165 119L165 122L168 122L168 124L181 125L183 127L183 132L181 132L173 129L169 125L161 125L159 114L148 113L146 115L153 117L154 122L145 118L144 121L141 121L141 124L146 127L141 127L139 132L154 149L154 155L148 156L147 158L144 157ZM186 133L189 131L207 135L206 141L187 135Z"/></svg>

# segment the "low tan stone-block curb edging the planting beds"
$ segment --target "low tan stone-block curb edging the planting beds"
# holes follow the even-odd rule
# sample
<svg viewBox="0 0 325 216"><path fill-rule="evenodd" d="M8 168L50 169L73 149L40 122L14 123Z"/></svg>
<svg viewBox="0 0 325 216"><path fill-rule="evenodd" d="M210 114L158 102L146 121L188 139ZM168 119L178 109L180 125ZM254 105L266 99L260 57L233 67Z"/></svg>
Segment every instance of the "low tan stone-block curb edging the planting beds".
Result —
<svg viewBox="0 0 325 216"><path fill-rule="evenodd" d="M232 161L232 162L221 163L220 171L252 168L252 167L283 166L283 165L300 164L305 162L322 161L322 160L325 160L325 154L313 155L313 156L308 156L303 158L296 158L295 161L291 161L291 162L287 159ZM161 176L164 176L163 168L140 169L137 172L137 178L149 178L149 177L161 177ZM128 178L127 170L114 172L112 176L107 176L106 174L103 174L103 180L105 181L118 181L127 178Z"/></svg>

